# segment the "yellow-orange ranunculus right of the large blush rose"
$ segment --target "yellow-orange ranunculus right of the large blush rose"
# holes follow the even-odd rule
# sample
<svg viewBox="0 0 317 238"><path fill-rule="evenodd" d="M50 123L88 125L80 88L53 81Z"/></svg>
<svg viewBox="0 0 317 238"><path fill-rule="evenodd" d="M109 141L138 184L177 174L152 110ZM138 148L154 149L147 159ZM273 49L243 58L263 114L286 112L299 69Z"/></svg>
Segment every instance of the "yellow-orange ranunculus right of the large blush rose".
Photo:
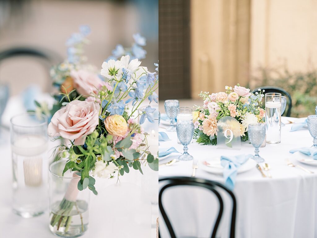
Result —
<svg viewBox="0 0 317 238"><path fill-rule="evenodd" d="M125 136L128 131L128 123L123 116L112 115L105 120L107 131L113 136Z"/></svg>

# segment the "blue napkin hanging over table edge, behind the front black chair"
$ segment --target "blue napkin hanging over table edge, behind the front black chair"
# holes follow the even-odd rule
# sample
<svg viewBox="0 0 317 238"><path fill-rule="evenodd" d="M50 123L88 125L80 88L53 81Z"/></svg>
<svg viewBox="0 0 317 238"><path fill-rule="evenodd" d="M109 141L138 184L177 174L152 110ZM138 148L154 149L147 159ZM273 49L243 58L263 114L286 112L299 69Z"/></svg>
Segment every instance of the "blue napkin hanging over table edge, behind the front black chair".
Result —
<svg viewBox="0 0 317 238"><path fill-rule="evenodd" d="M235 155L235 156L221 156L220 162L223 166L223 178L228 188L233 190L236 183L237 168L244 164L251 158L252 155Z"/></svg>

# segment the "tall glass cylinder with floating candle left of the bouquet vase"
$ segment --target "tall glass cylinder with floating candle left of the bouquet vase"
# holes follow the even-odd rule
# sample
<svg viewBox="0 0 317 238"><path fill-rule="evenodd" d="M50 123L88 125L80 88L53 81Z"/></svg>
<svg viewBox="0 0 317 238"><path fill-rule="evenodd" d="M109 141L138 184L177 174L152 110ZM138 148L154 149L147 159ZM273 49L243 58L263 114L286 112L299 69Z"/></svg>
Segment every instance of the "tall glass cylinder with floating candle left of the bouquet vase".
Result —
<svg viewBox="0 0 317 238"><path fill-rule="evenodd" d="M47 117L24 113L11 118L13 211L23 217L44 212L48 205Z"/></svg>

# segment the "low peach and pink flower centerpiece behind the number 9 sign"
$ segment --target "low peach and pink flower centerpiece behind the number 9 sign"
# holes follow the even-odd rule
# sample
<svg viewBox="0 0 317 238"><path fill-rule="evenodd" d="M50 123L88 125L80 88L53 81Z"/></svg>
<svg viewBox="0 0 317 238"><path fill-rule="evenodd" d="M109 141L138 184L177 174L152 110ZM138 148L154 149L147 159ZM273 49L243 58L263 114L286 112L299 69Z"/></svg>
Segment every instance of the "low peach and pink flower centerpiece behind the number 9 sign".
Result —
<svg viewBox="0 0 317 238"><path fill-rule="evenodd" d="M250 93L250 89L237 84L226 86L226 92L201 92L204 106L193 112L194 137L197 143L217 145L217 122L224 116L232 116L240 123L240 136L248 140L248 125L263 122L265 111L261 108L263 91Z"/></svg>

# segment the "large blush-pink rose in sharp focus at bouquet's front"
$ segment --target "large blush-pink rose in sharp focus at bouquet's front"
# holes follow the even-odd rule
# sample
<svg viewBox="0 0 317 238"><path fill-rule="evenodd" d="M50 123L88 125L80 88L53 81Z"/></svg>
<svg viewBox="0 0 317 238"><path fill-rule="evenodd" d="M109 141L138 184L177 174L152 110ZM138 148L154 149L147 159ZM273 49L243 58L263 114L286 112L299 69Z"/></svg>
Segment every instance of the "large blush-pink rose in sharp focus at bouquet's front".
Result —
<svg viewBox="0 0 317 238"><path fill-rule="evenodd" d="M93 133L99 122L100 105L94 102L74 100L55 112L49 123L49 136L61 136L83 145L87 135Z"/></svg>

